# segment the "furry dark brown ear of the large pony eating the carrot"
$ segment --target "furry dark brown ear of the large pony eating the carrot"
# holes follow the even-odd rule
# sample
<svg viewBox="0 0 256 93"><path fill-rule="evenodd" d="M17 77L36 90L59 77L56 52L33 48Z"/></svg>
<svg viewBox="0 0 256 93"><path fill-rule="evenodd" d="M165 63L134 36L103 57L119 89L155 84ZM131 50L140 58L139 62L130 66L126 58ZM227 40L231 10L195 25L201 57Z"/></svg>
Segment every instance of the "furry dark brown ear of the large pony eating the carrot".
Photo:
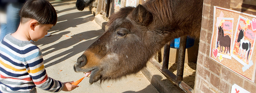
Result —
<svg viewBox="0 0 256 93"><path fill-rule="evenodd" d="M133 19L136 23L147 26L152 22L153 15L144 6L139 4L132 11L132 18L131 19Z"/></svg>

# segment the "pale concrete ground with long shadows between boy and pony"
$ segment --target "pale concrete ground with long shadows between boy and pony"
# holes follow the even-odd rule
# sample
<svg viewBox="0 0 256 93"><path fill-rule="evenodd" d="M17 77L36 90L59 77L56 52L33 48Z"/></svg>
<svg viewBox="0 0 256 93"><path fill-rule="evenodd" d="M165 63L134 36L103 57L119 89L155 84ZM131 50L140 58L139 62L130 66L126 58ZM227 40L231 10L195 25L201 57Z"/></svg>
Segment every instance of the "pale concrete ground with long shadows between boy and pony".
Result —
<svg viewBox="0 0 256 93"><path fill-rule="evenodd" d="M62 82L79 80L84 75L74 72L76 59L104 31L94 21L94 15L88 9L84 11L76 9L76 0L49 0L49 2L58 13L58 22L49 31L51 36L44 37L35 44L42 50L44 66L49 77ZM89 78L85 77L78 85L80 87L70 93L159 93L141 72L101 85L97 83L90 85ZM49 93L39 88L37 92Z"/></svg>

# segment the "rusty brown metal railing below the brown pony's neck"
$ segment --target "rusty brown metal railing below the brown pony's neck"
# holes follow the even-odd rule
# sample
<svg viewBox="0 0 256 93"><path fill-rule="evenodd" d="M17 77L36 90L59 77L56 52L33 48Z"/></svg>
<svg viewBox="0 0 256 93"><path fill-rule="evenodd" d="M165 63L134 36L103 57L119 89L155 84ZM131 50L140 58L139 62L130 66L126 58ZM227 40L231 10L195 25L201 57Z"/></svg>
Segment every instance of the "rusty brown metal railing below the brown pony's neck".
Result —
<svg viewBox="0 0 256 93"><path fill-rule="evenodd" d="M155 58L149 60L157 69L159 69L169 80L172 80L175 84L177 84L182 90L187 93L193 93L193 89L189 87L183 80L183 72L184 72L184 62L185 62L185 53L186 53L186 42L187 36L180 38L180 49L179 49L179 57L178 57L178 65L177 65L177 75L173 74L168 69L169 65L169 55L170 55L170 43L167 43L164 46L164 57L163 57L163 65L161 65Z"/></svg>

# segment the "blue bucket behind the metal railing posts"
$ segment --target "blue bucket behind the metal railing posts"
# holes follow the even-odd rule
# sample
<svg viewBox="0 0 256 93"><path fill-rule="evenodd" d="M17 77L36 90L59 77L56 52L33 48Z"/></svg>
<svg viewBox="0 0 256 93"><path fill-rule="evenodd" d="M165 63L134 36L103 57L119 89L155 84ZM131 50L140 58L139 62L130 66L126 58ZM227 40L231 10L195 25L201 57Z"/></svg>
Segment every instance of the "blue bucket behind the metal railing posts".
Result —
<svg viewBox="0 0 256 93"><path fill-rule="evenodd" d="M194 42L195 42L195 39L187 36L186 49L194 46ZM175 48L175 49L179 49L180 48L180 37L175 38L174 40L172 40L171 44L170 44L170 47Z"/></svg>

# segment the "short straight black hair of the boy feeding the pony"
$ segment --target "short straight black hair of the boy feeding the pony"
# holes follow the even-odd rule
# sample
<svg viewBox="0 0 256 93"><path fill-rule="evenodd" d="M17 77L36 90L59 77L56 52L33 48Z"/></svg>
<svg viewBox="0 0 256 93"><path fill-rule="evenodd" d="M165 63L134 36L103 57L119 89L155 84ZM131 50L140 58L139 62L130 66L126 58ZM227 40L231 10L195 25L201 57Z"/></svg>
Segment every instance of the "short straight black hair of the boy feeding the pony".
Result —
<svg viewBox="0 0 256 93"><path fill-rule="evenodd" d="M57 23L57 12L50 2L47 0L27 0L20 10L20 22L27 22L26 19L30 18L37 20L40 24L52 24ZM25 21L25 22L24 22Z"/></svg>

